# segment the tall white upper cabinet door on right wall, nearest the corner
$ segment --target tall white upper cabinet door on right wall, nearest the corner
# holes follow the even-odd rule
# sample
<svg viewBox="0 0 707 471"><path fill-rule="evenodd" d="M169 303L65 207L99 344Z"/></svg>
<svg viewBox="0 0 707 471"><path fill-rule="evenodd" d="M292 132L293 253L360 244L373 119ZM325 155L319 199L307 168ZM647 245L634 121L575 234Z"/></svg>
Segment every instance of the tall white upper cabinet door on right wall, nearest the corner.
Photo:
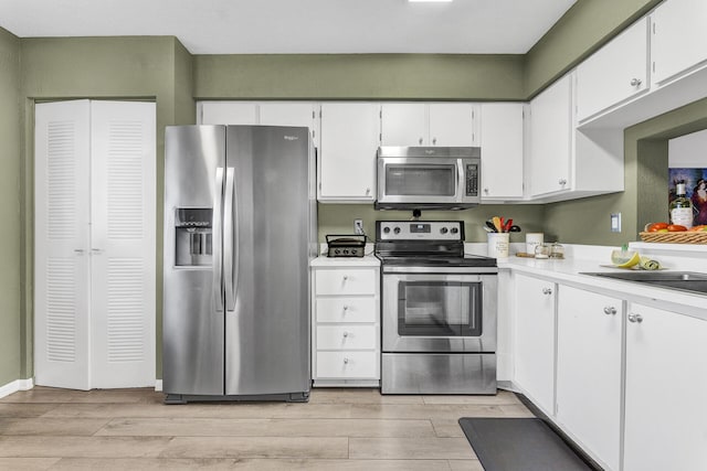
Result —
<svg viewBox="0 0 707 471"><path fill-rule="evenodd" d="M530 101L530 195L569 190L572 158L571 75Z"/></svg>

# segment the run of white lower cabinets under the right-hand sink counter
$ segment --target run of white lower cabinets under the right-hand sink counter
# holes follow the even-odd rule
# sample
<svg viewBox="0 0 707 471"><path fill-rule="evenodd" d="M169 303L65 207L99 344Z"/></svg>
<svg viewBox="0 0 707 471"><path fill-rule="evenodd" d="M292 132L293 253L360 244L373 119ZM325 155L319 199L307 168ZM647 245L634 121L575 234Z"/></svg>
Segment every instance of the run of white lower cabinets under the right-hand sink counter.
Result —
<svg viewBox="0 0 707 471"><path fill-rule="evenodd" d="M514 384L536 406L606 471L707 470L706 320L511 278Z"/></svg>

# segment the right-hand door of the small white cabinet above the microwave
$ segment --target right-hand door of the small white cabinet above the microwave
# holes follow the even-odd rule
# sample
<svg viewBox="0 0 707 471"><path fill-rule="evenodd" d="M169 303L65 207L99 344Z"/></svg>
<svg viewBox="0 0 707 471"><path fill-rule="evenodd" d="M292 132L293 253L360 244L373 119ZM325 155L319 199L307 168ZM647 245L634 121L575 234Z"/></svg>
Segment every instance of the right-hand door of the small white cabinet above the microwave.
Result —
<svg viewBox="0 0 707 471"><path fill-rule="evenodd" d="M476 146L476 107L469 103L430 104L429 146Z"/></svg>

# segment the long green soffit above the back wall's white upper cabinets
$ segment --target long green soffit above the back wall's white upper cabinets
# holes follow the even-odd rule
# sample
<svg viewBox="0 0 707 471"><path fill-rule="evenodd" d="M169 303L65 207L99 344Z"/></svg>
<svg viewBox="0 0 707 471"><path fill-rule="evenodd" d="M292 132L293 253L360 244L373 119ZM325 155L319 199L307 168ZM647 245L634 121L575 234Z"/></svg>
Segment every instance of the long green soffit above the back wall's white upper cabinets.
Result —
<svg viewBox="0 0 707 471"><path fill-rule="evenodd" d="M198 55L198 99L524 99L520 55Z"/></svg>

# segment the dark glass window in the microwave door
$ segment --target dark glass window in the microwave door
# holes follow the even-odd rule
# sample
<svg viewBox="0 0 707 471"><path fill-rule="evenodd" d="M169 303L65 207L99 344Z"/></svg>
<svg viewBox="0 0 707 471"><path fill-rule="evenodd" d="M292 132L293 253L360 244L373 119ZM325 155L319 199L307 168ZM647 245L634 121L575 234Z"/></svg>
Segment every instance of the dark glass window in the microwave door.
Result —
<svg viewBox="0 0 707 471"><path fill-rule="evenodd" d="M389 196L454 196L456 165L388 164L386 194Z"/></svg>

